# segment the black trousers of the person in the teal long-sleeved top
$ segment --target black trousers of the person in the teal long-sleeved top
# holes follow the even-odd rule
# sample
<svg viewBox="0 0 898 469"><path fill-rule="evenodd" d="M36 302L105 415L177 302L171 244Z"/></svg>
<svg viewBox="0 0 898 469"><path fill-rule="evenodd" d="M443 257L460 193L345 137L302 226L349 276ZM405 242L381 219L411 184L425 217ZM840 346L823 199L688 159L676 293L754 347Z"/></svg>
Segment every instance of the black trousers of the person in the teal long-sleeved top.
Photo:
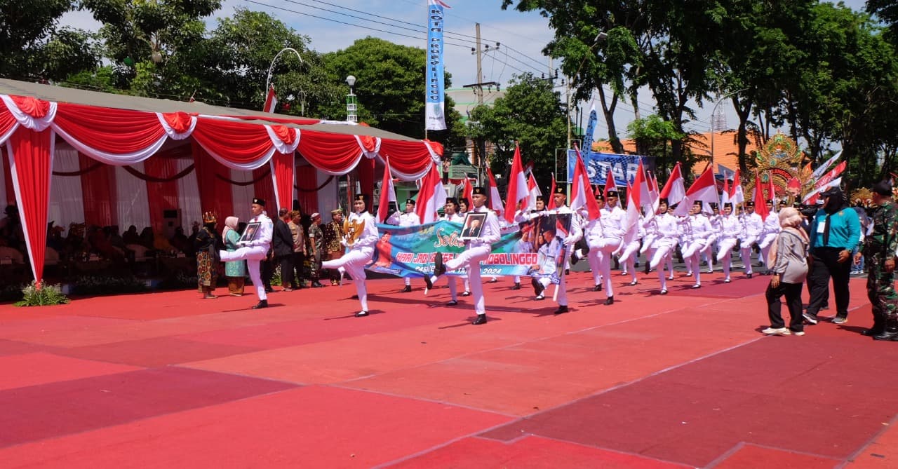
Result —
<svg viewBox="0 0 898 469"><path fill-rule="evenodd" d="M841 248L815 248L814 265L807 274L807 290L811 300L807 305L807 313L817 316L817 312L828 300L829 282L832 277L832 291L836 296L836 316L848 317L848 301L850 292L848 282L851 272L851 260L839 262Z"/></svg>

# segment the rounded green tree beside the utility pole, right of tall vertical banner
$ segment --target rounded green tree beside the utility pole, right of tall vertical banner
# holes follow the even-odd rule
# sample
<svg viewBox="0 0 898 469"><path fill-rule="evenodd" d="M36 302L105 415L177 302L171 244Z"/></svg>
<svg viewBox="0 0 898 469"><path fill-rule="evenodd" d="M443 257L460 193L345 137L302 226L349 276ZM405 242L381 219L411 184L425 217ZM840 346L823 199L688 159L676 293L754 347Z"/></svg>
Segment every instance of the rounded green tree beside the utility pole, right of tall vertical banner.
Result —
<svg viewBox="0 0 898 469"><path fill-rule="evenodd" d="M495 145L489 166L497 178L507 180L515 142L521 157L533 161L533 176L541 187L550 185L555 171L555 150L567 143L567 113L561 105L560 93L552 91L552 83L533 74L515 76L505 96L492 106L471 109L469 136ZM559 170L565 170L562 161ZM559 174L559 179L564 179Z"/></svg>

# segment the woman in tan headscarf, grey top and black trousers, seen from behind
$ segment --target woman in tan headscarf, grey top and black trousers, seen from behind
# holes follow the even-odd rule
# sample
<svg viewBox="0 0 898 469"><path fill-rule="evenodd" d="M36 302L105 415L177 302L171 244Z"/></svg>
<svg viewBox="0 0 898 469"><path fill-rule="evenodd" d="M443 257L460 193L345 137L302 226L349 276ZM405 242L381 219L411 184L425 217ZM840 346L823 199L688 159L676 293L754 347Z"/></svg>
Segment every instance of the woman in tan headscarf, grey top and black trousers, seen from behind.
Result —
<svg viewBox="0 0 898 469"><path fill-rule="evenodd" d="M810 239L801 229L801 213L792 207L779 211L782 231L770 245L767 265L772 266L770 284L767 286L767 316L770 327L761 331L767 335L804 335L805 318L801 312L801 287L807 277L807 249ZM789 325L786 327L780 314L779 299L786 297Z"/></svg>

